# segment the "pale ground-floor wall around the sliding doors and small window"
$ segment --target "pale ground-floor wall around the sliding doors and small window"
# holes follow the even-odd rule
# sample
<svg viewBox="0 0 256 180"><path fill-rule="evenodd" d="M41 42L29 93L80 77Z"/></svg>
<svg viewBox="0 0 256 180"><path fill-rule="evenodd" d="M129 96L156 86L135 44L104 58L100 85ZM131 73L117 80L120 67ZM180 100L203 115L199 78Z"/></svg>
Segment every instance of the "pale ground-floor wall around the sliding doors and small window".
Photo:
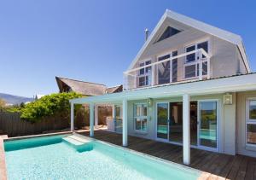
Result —
<svg viewBox="0 0 256 180"><path fill-rule="evenodd" d="M218 100L218 151L224 154L236 154L236 95L233 94L233 104L224 105L223 94L209 96L191 96L190 101ZM147 103L143 101L128 102L128 134L148 139L156 139L156 103L157 102L182 102L182 97L170 97L165 99L154 99L153 106L148 107L148 130L144 132L135 131L135 120L133 118L133 106L136 103ZM128 140L129 141L129 140Z"/></svg>

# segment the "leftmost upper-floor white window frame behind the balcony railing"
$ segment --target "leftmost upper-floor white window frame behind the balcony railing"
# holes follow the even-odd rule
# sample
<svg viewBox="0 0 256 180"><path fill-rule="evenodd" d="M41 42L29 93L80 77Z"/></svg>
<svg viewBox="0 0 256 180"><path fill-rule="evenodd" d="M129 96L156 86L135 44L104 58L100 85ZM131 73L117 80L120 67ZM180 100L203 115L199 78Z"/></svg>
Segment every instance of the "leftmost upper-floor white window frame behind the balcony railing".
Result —
<svg viewBox="0 0 256 180"><path fill-rule="evenodd" d="M146 66L146 65L148 65L148 64L146 64L147 62L149 61L149 64L151 64L152 63L152 60L150 59L150 60L145 60L145 61L139 61L138 62L138 67L143 67L142 69L143 69L143 72L144 73L141 73L141 70L142 69L139 69L138 71L137 71L137 87L145 87L145 86L148 86L148 85L150 85L150 83L151 83L151 80L149 79L149 76L150 76L150 73L152 73L152 67L151 67L151 71L148 71L148 67L144 67L144 66ZM143 66L141 66L141 64L143 64ZM148 72L147 72L148 71ZM140 81L139 81L139 79L140 78L144 78L144 81L145 81L145 84L144 85L140 85ZM148 84L146 84L146 78L148 78Z"/></svg>

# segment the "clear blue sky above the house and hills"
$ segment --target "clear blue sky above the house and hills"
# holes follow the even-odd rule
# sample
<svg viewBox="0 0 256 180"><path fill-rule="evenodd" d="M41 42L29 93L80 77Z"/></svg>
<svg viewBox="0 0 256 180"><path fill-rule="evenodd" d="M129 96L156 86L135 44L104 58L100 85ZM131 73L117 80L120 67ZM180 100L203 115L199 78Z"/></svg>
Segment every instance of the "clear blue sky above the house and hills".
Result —
<svg viewBox="0 0 256 180"><path fill-rule="evenodd" d="M235 32L256 70L256 3L218 0L0 0L0 92L57 92L55 76L109 86L166 9Z"/></svg>

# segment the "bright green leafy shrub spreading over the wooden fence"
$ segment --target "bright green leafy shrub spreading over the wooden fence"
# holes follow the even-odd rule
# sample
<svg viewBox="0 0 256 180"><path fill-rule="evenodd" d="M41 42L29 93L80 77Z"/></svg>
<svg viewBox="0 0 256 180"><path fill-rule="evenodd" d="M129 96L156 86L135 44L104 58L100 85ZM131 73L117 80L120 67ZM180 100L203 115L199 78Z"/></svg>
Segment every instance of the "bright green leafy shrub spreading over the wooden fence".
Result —
<svg viewBox="0 0 256 180"><path fill-rule="evenodd" d="M38 101L26 104L25 107L20 110L20 118L30 122L38 122L42 118L53 116L56 113L62 113L68 116L70 112L69 100L78 97L81 97L81 95L75 92L55 93L44 96ZM76 108L79 107L81 106L76 106Z"/></svg>

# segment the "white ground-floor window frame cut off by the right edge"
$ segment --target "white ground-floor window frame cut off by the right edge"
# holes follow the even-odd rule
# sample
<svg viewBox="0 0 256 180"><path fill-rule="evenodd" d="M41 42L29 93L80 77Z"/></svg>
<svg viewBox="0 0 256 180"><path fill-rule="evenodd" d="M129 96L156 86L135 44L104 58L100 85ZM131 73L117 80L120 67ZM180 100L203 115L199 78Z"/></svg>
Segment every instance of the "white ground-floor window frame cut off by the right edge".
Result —
<svg viewBox="0 0 256 180"><path fill-rule="evenodd" d="M256 148L256 142L254 144L247 142L247 132L248 132L247 125L256 125L256 119L249 118L250 117L250 102L251 101L256 101L256 97L247 98L247 101L246 101L245 142L246 142L247 147Z"/></svg>

